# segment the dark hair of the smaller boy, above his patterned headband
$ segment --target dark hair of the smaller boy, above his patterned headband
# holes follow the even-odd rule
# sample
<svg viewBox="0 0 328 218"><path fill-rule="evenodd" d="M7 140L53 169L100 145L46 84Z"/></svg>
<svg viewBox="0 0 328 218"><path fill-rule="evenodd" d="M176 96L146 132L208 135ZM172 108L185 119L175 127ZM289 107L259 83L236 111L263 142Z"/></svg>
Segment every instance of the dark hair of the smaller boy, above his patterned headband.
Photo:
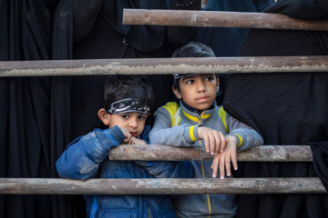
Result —
<svg viewBox="0 0 328 218"><path fill-rule="evenodd" d="M104 86L104 107L125 98L138 100L141 105L154 106L155 97L145 75L109 75Z"/></svg>

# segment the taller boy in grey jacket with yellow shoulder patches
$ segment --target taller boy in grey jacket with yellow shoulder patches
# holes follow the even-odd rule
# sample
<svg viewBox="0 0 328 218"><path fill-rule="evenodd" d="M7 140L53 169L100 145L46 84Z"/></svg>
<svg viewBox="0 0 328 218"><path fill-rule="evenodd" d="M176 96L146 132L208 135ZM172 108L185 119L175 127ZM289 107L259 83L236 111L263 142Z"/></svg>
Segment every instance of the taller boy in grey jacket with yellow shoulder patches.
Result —
<svg viewBox="0 0 328 218"><path fill-rule="evenodd" d="M207 45L191 42L172 57L214 57ZM196 178L231 176L231 161L237 170L236 150L263 144L261 135L216 105L219 79L215 74L174 74L173 92L179 104L160 107L149 134L150 144L205 146L215 154L210 161L191 161ZM211 172L210 168L213 169ZM233 194L179 195L173 199L178 217L233 217L237 210Z"/></svg>

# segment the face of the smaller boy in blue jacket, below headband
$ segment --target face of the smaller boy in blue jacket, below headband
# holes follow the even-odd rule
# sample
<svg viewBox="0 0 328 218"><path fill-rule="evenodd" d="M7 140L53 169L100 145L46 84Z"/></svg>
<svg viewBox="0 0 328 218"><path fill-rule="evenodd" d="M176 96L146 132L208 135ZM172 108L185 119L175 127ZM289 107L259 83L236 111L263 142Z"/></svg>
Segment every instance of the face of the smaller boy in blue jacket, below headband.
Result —
<svg viewBox="0 0 328 218"><path fill-rule="evenodd" d="M138 137L138 135L143 132L146 119L149 116L149 114L141 114L138 112L132 112L127 114L106 113L103 115L106 116L106 124L108 125L108 128L112 128L115 125L118 125L118 127L124 127L128 129L129 133L134 137Z"/></svg>

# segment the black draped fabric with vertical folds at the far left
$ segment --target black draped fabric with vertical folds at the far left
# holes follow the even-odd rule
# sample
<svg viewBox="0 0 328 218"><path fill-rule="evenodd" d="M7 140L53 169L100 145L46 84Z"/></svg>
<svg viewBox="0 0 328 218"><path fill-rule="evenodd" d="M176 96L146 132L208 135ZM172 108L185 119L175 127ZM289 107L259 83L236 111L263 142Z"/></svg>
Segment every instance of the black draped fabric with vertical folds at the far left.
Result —
<svg viewBox="0 0 328 218"><path fill-rule="evenodd" d="M72 1L0 0L0 17L1 61L72 57ZM0 177L57 177L70 140L69 87L69 77L0 78ZM73 211L65 195L2 194L0 217Z"/></svg>

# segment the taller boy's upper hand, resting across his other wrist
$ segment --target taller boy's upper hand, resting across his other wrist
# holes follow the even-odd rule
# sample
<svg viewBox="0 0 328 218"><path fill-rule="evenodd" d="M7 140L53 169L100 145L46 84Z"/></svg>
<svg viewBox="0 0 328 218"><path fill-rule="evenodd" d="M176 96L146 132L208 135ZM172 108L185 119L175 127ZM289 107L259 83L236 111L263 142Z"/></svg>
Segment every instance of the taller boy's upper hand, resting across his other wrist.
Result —
<svg viewBox="0 0 328 218"><path fill-rule="evenodd" d="M223 153L228 140L224 135L208 127L200 126L198 128L200 139L204 140L206 152L212 155Z"/></svg>

